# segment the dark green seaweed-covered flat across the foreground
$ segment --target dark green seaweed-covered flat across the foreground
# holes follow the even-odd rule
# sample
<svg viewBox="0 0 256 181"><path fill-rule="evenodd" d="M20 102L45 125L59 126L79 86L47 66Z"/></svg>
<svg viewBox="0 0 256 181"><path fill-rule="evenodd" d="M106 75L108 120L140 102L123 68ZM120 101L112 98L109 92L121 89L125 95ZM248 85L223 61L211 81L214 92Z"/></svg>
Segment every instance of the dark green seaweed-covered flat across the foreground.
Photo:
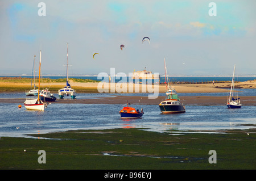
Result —
<svg viewBox="0 0 256 181"><path fill-rule="evenodd" d="M175 133L128 128L2 137L0 169L256 169L254 129ZM209 150L217 163L209 163Z"/></svg>

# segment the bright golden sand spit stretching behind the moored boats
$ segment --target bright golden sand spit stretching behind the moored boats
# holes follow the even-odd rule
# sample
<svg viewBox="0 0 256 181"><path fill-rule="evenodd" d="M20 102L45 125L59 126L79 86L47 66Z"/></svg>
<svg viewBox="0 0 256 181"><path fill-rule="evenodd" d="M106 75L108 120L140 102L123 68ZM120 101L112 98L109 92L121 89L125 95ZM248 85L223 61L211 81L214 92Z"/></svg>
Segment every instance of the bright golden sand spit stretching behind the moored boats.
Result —
<svg viewBox="0 0 256 181"><path fill-rule="evenodd" d="M156 92L164 93L166 92L166 85L139 85L137 83L106 83L103 85L101 82L69 82L71 87L76 90L77 93L96 93L99 91L110 92L114 91L117 93L126 92ZM98 89L98 84L101 83ZM65 83L40 83L40 90L48 87L49 91L52 93L57 93L59 89L62 89ZM104 87L106 86L106 87ZM108 86L108 87L107 87ZM122 88L126 86L126 88ZM131 90L129 88L131 87ZM158 86L158 87L155 87ZM202 83L202 84L176 84L171 85L179 93L211 93L211 92L229 92L231 83ZM236 83L237 89L256 89L256 81L238 82ZM31 83L22 82L0 82L0 93L2 92L26 92L29 91ZM148 88L148 89L147 89ZM119 92L122 91L122 92Z"/></svg>

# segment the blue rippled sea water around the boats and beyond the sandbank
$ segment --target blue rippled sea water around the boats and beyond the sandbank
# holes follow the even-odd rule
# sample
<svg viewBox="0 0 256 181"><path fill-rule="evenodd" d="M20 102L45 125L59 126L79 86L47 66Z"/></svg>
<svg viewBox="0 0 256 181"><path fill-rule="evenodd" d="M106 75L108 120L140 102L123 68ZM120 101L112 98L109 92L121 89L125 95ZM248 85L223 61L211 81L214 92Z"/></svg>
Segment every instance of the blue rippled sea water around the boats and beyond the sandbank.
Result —
<svg viewBox="0 0 256 181"><path fill-rule="evenodd" d="M56 77L55 78L59 78ZM63 78L63 77L61 77ZM78 77L76 77L78 78ZM80 77L92 79L91 77ZM94 77L97 79L97 77ZM175 77L179 81L213 81L213 77ZM225 81L226 78L214 81ZM253 80L255 77L240 77L240 81ZM237 89L241 96L255 96L255 89ZM178 93L179 94L179 93ZM148 96L146 93L94 93L77 94L77 99L98 99L117 95ZM180 93L179 96L228 96L228 93ZM57 96L57 94L55 95ZM159 94L164 96L164 94ZM0 93L1 98L26 98L25 92ZM71 99L65 97L65 99ZM21 99L23 100L23 99ZM242 100L241 100L242 101ZM72 102L72 101L71 101ZM18 108L18 105L22 108ZM31 137L29 134L40 134L69 131L78 129L112 129L112 128L141 128L145 131L216 133L221 130L249 129L256 123L256 107L242 106L240 109L228 109L221 106L185 106L186 112L162 114L158 105L131 105L135 109L143 108L144 115L139 119L121 119L119 111L125 103L120 104L55 104L51 103L46 111L27 111L20 103L0 104L0 137ZM175 131L175 132L171 132Z"/></svg>

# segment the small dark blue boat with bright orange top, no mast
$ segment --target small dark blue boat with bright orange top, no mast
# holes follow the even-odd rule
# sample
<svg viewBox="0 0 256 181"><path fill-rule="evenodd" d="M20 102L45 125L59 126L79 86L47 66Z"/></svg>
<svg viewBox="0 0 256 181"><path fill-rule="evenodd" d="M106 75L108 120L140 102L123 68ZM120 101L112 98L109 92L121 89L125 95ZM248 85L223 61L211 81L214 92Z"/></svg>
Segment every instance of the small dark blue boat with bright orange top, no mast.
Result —
<svg viewBox="0 0 256 181"><path fill-rule="evenodd" d="M127 103L127 106L123 107L122 110L119 111L121 119L139 118L143 116L143 108L141 109L140 112L139 110L135 110L135 108L133 107L129 107L128 104L129 103Z"/></svg>

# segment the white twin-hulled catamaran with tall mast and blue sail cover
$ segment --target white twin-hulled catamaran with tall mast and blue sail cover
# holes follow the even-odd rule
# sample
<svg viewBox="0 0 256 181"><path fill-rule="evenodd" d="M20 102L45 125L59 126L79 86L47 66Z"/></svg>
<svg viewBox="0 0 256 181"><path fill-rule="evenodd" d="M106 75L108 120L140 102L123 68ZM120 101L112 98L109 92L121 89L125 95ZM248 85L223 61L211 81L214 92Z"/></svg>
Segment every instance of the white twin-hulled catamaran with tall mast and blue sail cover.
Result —
<svg viewBox="0 0 256 181"><path fill-rule="evenodd" d="M70 95L72 99L75 99L76 97L76 91L72 89L68 83L68 44L67 44L67 86L59 90L60 99L63 99L64 95L67 95L67 96Z"/></svg>

